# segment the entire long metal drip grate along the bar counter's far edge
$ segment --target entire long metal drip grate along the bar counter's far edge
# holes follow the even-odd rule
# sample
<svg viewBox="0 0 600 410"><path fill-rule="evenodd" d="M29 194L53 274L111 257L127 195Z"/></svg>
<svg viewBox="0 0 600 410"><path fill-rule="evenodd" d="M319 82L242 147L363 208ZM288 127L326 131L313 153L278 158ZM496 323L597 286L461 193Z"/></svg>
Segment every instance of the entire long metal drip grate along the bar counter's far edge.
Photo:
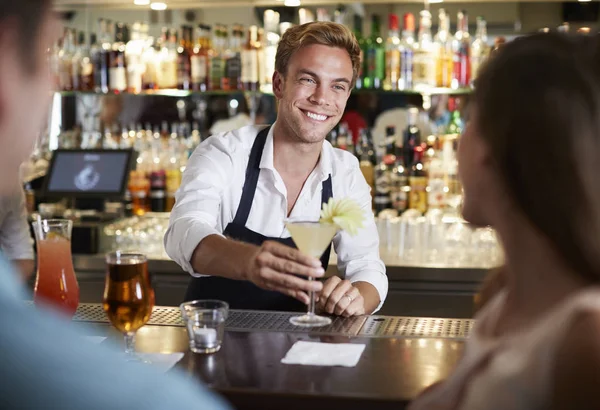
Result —
<svg viewBox="0 0 600 410"><path fill-rule="evenodd" d="M397 316L336 317L329 326L302 328L289 322L297 313L263 312L255 310L232 310L225 328L233 332L309 332L317 335L342 335L361 337L427 337L443 339L467 339L473 326L469 319L438 319ZM78 322L108 323L102 305L81 303L73 317ZM184 326L177 307L157 306L152 311L148 325Z"/></svg>

